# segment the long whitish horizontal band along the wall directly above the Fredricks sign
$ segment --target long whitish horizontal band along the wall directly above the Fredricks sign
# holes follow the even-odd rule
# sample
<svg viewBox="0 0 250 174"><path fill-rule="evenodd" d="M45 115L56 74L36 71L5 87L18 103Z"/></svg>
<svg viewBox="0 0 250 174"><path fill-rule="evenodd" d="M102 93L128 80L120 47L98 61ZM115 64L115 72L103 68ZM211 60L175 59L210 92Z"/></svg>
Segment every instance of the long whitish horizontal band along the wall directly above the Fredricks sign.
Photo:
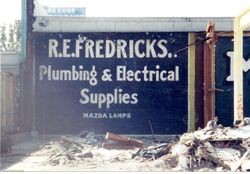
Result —
<svg viewBox="0 0 250 174"><path fill-rule="evenodd" d="M233 18L71 18L37 17L35 32L200 32L207 22L215 22L216 31L233 31Z"/></svg>

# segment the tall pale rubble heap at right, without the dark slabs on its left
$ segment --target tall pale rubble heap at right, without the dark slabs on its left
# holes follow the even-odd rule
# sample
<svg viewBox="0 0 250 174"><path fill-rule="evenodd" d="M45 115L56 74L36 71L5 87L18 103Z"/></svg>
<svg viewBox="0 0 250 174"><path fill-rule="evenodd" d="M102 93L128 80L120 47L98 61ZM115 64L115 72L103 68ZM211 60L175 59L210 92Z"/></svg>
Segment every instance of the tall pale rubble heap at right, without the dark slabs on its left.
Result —
<svg viewBox="0 0 250 174"><path fill-rule="evenodd" d="M238 128L217 127L210 130L205 128L183 134L180 141L172 145L168 155L175 156L178 166L189 170L207 167L212 162L211 167L214 168L248 171L250 166L248 168L240 166L243 161L250 160L246 155L250 145L249 138L249 125Z"/></svg>

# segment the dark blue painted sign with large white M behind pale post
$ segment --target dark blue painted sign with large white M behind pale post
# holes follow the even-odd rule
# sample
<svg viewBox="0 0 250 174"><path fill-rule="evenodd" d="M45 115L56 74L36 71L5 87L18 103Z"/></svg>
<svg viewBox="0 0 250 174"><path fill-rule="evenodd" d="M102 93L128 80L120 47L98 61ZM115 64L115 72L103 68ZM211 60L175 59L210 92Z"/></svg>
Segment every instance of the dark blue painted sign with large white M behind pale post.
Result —
<svg viewBox="0 0 250 174"><path fill-rule="evenodd" d="M219 37L216 43L216 115L225 125L233 124L233 37ZM250 116L250 37L243 39L244 115Z"/></svg>

